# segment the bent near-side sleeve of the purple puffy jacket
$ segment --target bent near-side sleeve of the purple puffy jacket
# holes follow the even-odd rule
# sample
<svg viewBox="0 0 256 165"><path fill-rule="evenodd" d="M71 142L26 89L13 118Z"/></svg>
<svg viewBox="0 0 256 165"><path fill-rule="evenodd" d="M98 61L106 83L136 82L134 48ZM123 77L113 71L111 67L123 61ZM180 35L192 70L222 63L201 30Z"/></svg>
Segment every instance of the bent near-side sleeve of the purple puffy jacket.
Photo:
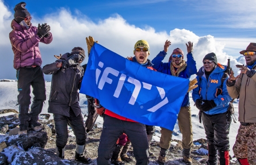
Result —
<svg viewBox="0 0 256 165"><path fill-rule="evenodd" d="M22 37L20 36L19 32L16 31L10 32L9 38L13 47L22 53L28 52L40 41L40 37L37 35L32 36L28 40L24 41L24 39L22 39Z"/></svg>

